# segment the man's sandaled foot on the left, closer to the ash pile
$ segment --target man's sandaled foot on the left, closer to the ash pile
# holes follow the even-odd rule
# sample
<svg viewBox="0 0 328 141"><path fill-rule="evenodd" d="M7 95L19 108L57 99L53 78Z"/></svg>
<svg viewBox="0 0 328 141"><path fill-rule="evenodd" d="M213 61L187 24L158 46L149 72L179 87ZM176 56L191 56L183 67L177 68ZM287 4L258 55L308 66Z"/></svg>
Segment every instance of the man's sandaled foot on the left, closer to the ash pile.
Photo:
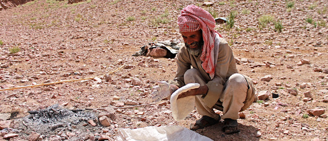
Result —
<svg viewBox="0 0 328 141"><path fill-rule="evenodd" d="M219 119L215 120L214 118L210 116L203 115L200 119L196 120L196 123L194 125L190 125L190 130L197 130L201 129L210 125L217 124L221 117L219 116Z"/></svg>

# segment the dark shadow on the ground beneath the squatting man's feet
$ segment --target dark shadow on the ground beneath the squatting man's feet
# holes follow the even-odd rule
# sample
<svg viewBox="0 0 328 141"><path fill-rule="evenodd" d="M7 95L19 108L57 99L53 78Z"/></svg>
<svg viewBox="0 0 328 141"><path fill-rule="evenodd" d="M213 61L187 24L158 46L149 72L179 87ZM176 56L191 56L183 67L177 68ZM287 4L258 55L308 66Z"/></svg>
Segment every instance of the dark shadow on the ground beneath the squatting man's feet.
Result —
<svg viewBox="0 0 328 141"><path fill-rule="evenodd" d="M213 140L259 140L259 137L256 137L258 128L248 125L242 125L238 123L240 129L239 133L235 134L225 134L221 131L223 122L218 124L206 127L204 129L198 129L196 132L207 136Z"/></svg>

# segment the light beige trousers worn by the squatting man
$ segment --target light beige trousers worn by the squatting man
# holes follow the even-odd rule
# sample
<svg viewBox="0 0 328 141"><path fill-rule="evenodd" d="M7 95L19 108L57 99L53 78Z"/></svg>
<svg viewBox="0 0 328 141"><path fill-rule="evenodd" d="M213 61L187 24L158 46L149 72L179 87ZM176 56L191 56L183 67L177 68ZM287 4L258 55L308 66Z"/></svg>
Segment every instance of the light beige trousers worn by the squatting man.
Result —
<svg viewBox="0 0 328 141"><path fill-rule="evenodd" d="M204 80L197 69L189 69L183 75L185 84L198 83L200 86L206 85L208 82ZM235 73L231 75L226 83L222 92L218 92L218 102L213 107L208 107L202 100L202 95L196 95L195 107L200 115L207 115L214 119L220 116L216 114L213 108L223 112L221 119L231 118L238 119L238 112L241 112L257 100L254 94L254 86L252 80L245 75Z"/></svg>

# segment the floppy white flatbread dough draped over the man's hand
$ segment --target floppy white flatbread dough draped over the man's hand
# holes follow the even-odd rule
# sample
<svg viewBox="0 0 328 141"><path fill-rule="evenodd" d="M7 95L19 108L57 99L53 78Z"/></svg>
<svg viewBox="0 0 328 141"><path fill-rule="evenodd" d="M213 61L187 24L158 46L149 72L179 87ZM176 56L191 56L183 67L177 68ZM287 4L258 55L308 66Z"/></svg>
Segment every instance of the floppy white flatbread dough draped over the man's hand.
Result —
<svg viewBox="0 0 328 141"><path fill-rule="evenodd" d="M198 83L190 83L179 89L177 89L170 99L172 116L175 120L180 121L186 118L186 116L195 108L195 96L187 96L178 98L179 94L187 92L191 89L199 88Z"/></svg>

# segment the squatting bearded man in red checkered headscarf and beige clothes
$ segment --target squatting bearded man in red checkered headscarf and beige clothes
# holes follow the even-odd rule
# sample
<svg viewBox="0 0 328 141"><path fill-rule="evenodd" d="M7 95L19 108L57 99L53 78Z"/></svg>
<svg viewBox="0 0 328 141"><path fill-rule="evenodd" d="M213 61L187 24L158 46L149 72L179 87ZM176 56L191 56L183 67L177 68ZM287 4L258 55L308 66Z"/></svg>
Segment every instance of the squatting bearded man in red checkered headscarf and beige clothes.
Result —
<svg viewBox="0 0 328 141"><path fill-rule="evenodd" d="M153 99L159 102L170 97L178 88L189 83L200 84L178 96L195 96L195 107L202 117L190 126L197 130L224 120L224 133L237 133L238 112L247 109L257 100L251 78L239 74L232 49L220 33L214 30L212 15L194 5L181 10L179 30L185 47L177 53L177 71L169 83L155 86ZM220 116L213 108L223 112Z"/></svg>

